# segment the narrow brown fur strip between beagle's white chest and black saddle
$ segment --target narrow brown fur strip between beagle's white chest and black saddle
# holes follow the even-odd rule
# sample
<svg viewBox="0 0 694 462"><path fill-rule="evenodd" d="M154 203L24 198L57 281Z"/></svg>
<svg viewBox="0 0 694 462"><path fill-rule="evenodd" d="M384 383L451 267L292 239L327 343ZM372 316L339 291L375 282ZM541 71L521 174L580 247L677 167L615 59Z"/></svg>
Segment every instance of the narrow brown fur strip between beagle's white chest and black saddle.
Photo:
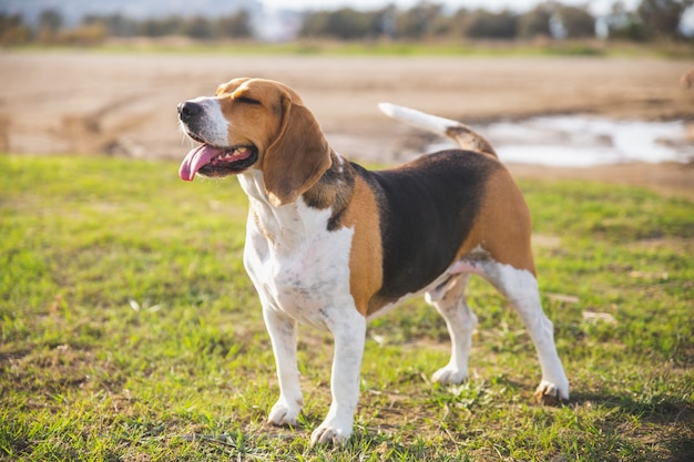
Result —
<svg viewBox="0 0 694 462"><path fill-rule="evenodd" d="M359 176L355 178L354 196L341 223L355 230L349 255L349 289L357 310L368 316L369 301L382 285L382 248L378 204L371 188Z"/></svg>

